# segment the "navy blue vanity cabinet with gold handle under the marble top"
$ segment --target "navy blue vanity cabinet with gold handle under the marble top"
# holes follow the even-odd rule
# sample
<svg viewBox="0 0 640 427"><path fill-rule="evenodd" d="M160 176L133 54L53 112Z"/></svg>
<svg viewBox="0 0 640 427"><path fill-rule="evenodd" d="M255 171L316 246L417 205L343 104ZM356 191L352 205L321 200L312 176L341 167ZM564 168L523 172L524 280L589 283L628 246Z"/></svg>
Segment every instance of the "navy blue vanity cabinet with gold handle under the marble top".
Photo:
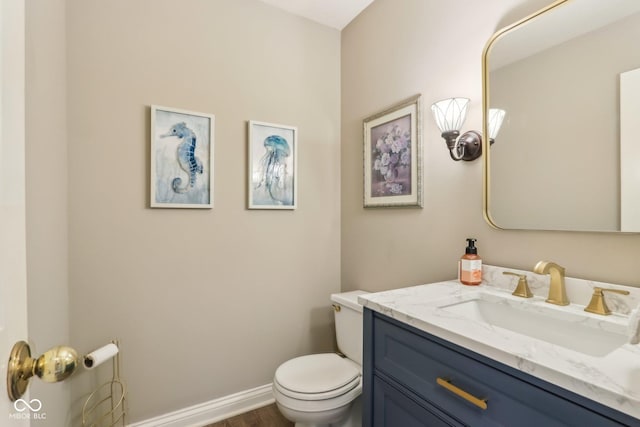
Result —
<svg viewBox="0 0 640 427"><path fill-rule="evenodd" d="M364 311L363 426L640 427L640 420Z"/></svg>

